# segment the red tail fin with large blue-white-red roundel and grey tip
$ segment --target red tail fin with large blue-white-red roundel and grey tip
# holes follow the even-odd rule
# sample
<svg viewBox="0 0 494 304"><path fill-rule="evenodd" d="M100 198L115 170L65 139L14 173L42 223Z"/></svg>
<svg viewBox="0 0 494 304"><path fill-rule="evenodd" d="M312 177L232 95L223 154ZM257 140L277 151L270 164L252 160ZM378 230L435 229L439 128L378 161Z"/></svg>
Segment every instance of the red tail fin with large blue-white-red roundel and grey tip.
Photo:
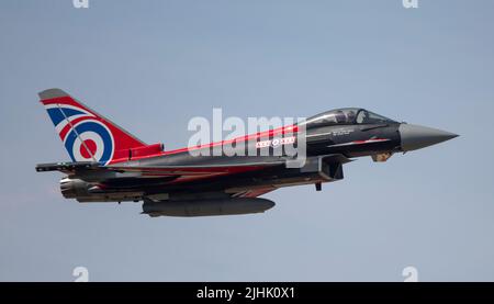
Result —
<svg viewBox="0 0 494 304"><path fill-rule="evenodd" d="M60 89L40 92L40 99L72 161L117 161L146 144Z"/></svg>

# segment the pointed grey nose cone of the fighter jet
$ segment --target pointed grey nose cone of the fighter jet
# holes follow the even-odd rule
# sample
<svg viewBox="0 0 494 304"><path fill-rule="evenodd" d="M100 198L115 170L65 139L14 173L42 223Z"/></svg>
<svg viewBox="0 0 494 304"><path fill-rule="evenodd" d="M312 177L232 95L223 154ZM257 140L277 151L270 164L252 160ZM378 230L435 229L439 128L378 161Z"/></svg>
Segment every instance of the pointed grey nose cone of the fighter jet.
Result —
<svg viewBox="0 0 494 304"><path fill-rule="evenodd" d="M458 137L453 133L413 124L401 124L398 131L403 151L422 149Z"/></svg>

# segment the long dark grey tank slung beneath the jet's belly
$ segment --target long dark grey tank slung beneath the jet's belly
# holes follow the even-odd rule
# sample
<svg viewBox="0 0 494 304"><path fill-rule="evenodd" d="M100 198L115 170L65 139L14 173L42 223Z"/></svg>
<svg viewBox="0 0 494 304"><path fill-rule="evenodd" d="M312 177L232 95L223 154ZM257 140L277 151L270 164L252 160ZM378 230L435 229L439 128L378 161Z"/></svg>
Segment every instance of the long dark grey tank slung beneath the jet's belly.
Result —
<svg viewBox="0 0 494 304"><path fill-rule="evenodd" d="M145 201L143 214L155 216L213 216L262 213L274 206L266 199L234 198L192 201Z"/></svg>

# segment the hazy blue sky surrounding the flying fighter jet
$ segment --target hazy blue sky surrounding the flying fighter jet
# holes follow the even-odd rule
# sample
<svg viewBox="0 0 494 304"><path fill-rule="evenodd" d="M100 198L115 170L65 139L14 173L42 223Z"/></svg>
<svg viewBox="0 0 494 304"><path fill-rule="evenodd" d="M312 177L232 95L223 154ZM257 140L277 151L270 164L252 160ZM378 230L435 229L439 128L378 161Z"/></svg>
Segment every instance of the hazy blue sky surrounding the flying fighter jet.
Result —
<svg viewBox="0 0 494 304"><path fill-rule="evenodd" d="M0 280L494 280L494 3L5 0L0 3ZM149 218L59 194L68 160L36 93L61 88L145 142L193 116L362 106L461 136L345 180L281 189L262 215Z"/></svg>

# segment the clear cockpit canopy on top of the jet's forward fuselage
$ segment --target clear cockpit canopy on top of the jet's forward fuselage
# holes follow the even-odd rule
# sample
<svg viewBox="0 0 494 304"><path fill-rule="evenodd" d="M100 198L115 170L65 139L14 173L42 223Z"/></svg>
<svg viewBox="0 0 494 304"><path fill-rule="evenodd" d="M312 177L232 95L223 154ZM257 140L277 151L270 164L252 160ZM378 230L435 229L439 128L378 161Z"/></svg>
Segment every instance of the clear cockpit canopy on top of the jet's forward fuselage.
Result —
<svg viewBox="0 0 494 304"><path fill-rule="evenodd" d="M345 108L327 111L305 121L306 128L345 124L389 124L393 120L359 108Z"/></svg>

